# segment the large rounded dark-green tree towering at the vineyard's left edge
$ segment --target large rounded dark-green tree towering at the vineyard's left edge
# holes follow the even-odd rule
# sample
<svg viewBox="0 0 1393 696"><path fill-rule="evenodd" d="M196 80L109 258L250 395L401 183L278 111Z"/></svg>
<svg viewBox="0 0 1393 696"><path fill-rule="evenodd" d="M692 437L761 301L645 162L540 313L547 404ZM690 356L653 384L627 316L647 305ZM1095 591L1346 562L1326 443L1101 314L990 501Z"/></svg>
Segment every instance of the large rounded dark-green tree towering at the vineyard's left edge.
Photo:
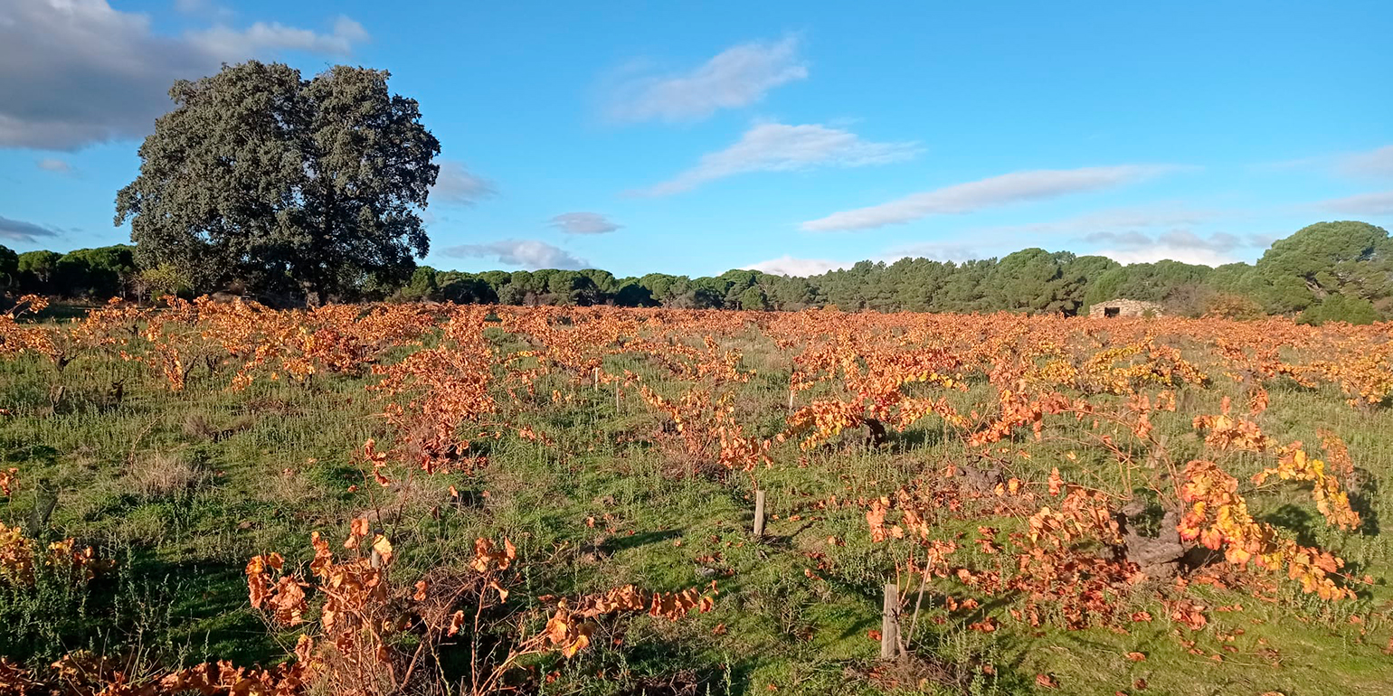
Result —
<svg viewBox="0 0 1393 696"><path fill-rule="evenodd" d="M199 291L233 281L309 302L411 277L440 143L386 71L224 65L170 89L176 109L141 146L116 199L141 264Z"/></svg>

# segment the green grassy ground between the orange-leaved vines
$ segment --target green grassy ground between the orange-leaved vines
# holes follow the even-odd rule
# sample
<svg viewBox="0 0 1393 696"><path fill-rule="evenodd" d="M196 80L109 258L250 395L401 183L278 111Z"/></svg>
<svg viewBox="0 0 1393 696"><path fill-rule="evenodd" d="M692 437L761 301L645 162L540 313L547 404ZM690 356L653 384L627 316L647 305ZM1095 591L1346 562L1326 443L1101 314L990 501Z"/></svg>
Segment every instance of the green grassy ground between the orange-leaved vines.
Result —
<svg viewBox="0 0 1393 696"><path fill-rule="evenodd" d="M784 423L787 356L755 334L727 341L744 351L742 366L756 370L740 391L738 420L769 437ZM607 358L607 372L624 369L657 374L645 361ZM1126 632L1006 621L983 633L968 628L981 614L932 610L917 636L925 660L897 672L876 668L879 644L868 632L879 628L880 587L894 579L898 551L869 541L864 508L816 503L878 497L961 459L964 445L946 438L937 419L892 434L880 448L780 450L773 468L748 476L655 444L648 434L659 420L635 395L616 402L609 388L582 387L570 402L527 412L550 444L510 436L490 443L489 464L476 473L350 491L362 484L354 459L362 443L393 436L382 402L365 390L372 376L316 377L308 386L259 380L244 391L227 390L226 377L195 370L176 394L145 366L116 358L74 362L61 377L32 358L0 362L0 406L10 409L0 416L0 458L22 482L0 519L38 522L46 537L77 537L117 561L81 596L42 585L0 592L0 624L8 628L0 654L33 664L75 649L135 651L163 664L283 660L291 639L267 631L251 610L247 560L280 551L304 561L311 530L340 537L350 519L382 508L408 575L458 562L476 536L507 536L527 561L521 594L532 597L717 580L715 611L678 624L634 619L623 644L598 640L595 650L549 667L557 675L540 686L545 693L850 696L894 690L893 681L904 692L1048 692L1036 675L1049 675L1059 692L1089 695L1393 693L1393 657L1382 651L1393 626L1386 586L1393 544L1379 526L1393 521L1393 505L1379 493L1393 473L1393 409L1351 409L1333 391L1277 387L1259 420L1282 441L1314 443L1318 426L1346 438L1361 470L1355 507L1364 529L1329 530L1297 487L1254 512L1376 578L1358 600L1328 604L1282 586L1279 601L1268 603L1202 587L1195 593L1211 611L1198 632L1145 597L1137 607L1156 621ZM67 394L49 412L59 380ZM109 395L116 381L124 391L118 402ZM538 393L553 387L571 390L556 379ZM1215 388L1194 398L1216 406L1223 395ZM1184 420L1158 427L1174 434L1178 450L1198 451ZM1029 454L1020 465L1034 480L1052 466L1078 482L1106 470L1087 452L1067 461L1057 443L1022 438L1013 447ZM759 540L749 535L756 484L768 491L772 516ZM449 494L451 486L462 503ZM56 497L52 515L35 521L49 497ZM1013 522L944 519L942 529L947 536L985 523ZM1145 658L1128 658L1130 651Z"/></svg>

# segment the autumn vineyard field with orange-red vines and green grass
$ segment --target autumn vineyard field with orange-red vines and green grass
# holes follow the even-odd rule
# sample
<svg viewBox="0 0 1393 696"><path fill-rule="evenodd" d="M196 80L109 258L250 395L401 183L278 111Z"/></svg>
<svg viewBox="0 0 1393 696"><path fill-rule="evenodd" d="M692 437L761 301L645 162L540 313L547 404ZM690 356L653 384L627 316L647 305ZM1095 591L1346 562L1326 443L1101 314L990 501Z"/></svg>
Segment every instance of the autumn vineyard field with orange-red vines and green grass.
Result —
<svg viewBox="0 0 1393 696"><path fill-rule="evenodd" d="M1393 683L1393 324L52 309L0 695Z"/></svg>

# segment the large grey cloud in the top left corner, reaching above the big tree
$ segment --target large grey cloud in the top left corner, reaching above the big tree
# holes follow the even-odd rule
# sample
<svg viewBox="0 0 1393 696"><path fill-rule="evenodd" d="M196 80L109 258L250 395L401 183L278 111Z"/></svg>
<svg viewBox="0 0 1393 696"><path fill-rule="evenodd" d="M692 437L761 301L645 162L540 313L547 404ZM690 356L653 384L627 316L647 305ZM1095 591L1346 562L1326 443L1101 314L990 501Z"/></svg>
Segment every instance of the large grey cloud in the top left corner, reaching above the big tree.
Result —
<svg viewBox="0 0 1393 696"><path fill-rule="evenodd" d="M343 56L365 39L345 17L329 33L258 22L169 36L153 32L149 15L106 0L0 3L0 148L72 150L139 138L170 109L176 79L291 50Z"/></svg>

